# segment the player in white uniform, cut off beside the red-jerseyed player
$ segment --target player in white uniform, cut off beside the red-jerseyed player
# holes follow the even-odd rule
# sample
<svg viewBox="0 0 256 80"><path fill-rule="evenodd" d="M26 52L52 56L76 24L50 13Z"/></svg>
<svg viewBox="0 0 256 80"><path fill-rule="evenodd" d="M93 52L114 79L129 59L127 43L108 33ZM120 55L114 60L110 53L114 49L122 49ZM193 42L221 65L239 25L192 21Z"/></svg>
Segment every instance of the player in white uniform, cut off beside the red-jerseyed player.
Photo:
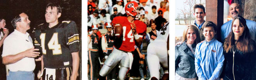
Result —
<svg viewBox="0 0 256 80"><path fill-rule="evenodd" d="M151 80L159 80L160 65L163 67L165 77L169 77L168 72L168 51L169 50L169 22L164 25L157 33L157 37L153 42L150 42L147 47L147 62L149 65L149 72ZM163 46L166 45L166 46Z"/></svg>

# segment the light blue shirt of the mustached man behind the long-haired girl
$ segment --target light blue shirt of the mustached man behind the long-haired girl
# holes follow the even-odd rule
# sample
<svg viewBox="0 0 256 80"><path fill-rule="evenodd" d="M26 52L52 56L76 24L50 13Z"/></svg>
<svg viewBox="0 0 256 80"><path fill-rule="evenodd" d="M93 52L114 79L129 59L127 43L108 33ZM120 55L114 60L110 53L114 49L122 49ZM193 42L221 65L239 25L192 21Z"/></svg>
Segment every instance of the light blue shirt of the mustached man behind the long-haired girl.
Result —
<svg viewBox="0 0 256 80"><path fill-rule="evenodd" d="M249 28L251 39L254 40L256 36L256 22L246 19L246 25ZM224 42L225 38L228 37L228 34L232 31L231 28L232 28L232 20L224 23L221 26L221 32L220 32L221 42Z"/></svg>

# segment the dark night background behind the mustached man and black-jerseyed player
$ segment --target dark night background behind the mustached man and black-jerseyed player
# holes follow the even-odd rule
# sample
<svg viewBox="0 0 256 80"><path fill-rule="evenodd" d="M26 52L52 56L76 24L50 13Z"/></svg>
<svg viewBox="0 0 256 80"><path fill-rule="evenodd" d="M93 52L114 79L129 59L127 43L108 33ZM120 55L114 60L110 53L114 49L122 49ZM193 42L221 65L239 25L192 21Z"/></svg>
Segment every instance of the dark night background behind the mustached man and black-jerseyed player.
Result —
<svg viewBox="0 0 256 80"><path fill-rule="evenodd" d="M9 34L14 31L14 27L11 25L11 20L16 15L25 12L31 21L30 30L27 32L30 33L33 38L33 34L31 34L33 28L42 23L46 23L45 7L49 2L57 2L62 7L61 17L59 18L60 22L62 20L73 20L76 22L81 45L81 0L0 0L0 16L6 20L5 28L9 29ZM77 77L77 79L81 80L81 46L79 54L80 68L78 71L79 77ZM0 64L3 65L2 63ZM36 62L36 68L34 70L35 77L37 76L37 72L40 68L41 62ZM1 73L2 72L0 72L0 74Z"/></svg>

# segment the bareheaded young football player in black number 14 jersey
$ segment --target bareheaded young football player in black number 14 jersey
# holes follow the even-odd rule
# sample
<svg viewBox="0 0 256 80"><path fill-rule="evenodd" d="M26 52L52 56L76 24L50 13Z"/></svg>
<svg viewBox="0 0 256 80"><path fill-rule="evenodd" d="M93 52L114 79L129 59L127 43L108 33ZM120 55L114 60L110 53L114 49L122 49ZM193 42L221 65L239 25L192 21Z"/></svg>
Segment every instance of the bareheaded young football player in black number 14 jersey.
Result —
<svg viewBox="0 0 256 80"><path fill-rule="evenodd" d="M42 50L43 80L76 80L79 67L79 34L73 21L59 22L61 7L48 3L47 23L35 30L35 47Z"/></svg>

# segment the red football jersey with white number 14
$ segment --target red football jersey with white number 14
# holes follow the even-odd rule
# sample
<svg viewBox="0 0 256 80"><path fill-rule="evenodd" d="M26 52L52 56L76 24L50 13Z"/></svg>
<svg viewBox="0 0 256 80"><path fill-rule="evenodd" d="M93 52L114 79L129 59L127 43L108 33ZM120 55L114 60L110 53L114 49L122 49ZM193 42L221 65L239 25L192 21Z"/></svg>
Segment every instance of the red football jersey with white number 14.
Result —
<svg viewBox="0 0 256 80"><path fill-rule="evenodd" d="M131 31L131 23L128 21L127 17L115 17L112 20L112 24L116 25L117 23L123 26L123 43L121 47L117 48L126 52L132 52L135 50L135 40ZM140 38L145 35L147 31L147 25L139 20L134 21L136 26L136 31L140 35ZM115 47L116 48L116 47Z"/></svg>

